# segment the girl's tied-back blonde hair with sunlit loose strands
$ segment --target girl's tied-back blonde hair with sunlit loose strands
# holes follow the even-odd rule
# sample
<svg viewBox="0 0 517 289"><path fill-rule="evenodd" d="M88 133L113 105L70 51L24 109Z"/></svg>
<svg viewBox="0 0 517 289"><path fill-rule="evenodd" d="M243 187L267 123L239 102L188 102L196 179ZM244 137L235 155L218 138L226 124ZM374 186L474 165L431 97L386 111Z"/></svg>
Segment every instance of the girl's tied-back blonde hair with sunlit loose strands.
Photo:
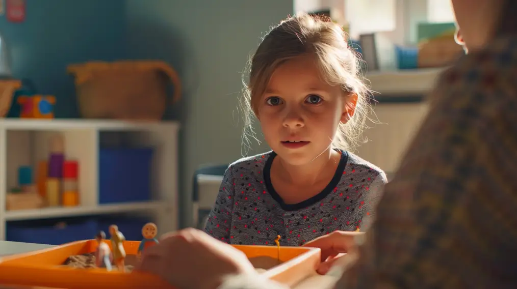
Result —
<svg viewBox="0 0 517 289"><path fill-rule="evenodd" d="M245 131L242 141L247 148L253 131L253 117L258 118L258 107L272 73L286 60L304 55L315 55L318 67L330 85L340 85L347 94L357 94L354 115L347 123L340 123L332 146L354 150L358 145L370 109L369 90L362 82L360 59L348 46L347 35L328 18L298 13L273 27L263 38L248 62L249 82L243 75L244 91L240 99Z"/></svg>

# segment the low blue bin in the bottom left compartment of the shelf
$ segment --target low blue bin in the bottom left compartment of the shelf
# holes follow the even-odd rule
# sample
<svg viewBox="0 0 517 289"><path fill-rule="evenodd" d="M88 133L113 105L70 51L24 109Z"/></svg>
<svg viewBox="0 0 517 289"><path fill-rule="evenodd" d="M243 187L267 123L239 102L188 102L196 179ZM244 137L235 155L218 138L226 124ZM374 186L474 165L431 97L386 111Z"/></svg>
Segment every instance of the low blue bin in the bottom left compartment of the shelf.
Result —
<svg viewBox="0 0 517 289"><path fill-rule="evenodd" d="M60 226L61 222L65 226ZM62 245L93 239L97 228L96 220L84 218L7 222L6 239L12 242Z"/></svg>

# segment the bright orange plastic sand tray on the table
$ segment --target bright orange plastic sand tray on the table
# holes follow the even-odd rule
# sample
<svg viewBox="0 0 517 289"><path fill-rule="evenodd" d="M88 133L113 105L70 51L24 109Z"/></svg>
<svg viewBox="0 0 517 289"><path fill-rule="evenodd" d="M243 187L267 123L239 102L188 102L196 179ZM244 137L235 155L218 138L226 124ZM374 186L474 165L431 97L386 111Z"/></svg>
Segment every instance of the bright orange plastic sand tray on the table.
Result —
<svg viewBox="0 0 517 289"><path fill-rule="evenodd" d="M106 242L108 245L111 244ZM140 242L126 241L127 254L136 254ZM158 277L143 272L131 274L107 271L103 268L76 269L62 266L71 255L94 252L96 240L84 240L64 244L50 249L12 255L0 260L0 283L68 289L128 289L128 288L171 288ZM278 248L273 246L234 245L249 259L265 256L277 259ZM313 274L320 264L321 251L318 248L280 247L282 264L265 272L263 276L292 286Z"/></svg>

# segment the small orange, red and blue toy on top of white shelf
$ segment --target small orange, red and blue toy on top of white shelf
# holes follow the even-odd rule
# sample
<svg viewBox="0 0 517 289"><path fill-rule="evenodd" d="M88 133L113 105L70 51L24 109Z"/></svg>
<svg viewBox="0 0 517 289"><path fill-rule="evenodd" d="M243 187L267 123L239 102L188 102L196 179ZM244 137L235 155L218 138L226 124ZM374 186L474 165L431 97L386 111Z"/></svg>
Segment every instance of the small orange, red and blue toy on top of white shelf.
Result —
<svg viewBox="0 0 517 289"><path fill-rule="evenodd" d="M19 97L18 103L22 107L21 118L54 118L56 98L52 95L38 94L32 97Z"/></svg>

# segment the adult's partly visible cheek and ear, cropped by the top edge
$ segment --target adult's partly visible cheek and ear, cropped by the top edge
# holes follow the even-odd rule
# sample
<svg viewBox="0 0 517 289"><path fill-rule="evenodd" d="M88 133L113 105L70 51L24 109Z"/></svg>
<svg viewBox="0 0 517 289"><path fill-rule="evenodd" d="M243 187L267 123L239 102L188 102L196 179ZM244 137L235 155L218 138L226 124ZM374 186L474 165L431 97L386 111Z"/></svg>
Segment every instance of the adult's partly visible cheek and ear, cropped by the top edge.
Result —
<svg viewBox="0 0 517 289"><path fill-rule="evenodd" d="M451 0L458 24L457 42L467 51L481 49L493 38L505 0ZM514 0L511 0L514 1Z"/></svg>

